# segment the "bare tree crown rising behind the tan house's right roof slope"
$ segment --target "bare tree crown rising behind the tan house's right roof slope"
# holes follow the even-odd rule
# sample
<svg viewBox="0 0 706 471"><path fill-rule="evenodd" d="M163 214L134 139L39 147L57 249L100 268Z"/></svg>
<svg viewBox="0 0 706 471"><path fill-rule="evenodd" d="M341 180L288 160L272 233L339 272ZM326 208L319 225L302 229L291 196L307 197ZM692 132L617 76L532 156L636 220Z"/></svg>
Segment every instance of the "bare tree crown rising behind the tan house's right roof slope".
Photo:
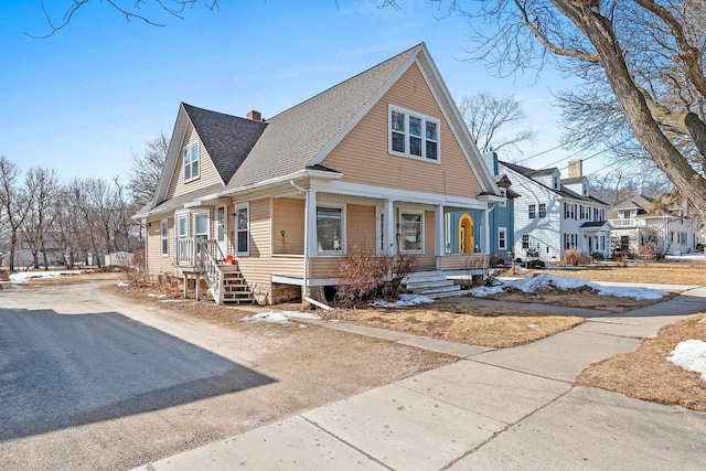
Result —
<svg viewBox="0 0 706 471"><path fill-rule="evenodd" d="M527 119L522 103L512 95L498 97L481 92L461 97L457 106L481 152L518 149L518 143L536 139L537 132L531 128L512 129Z"/></svg>

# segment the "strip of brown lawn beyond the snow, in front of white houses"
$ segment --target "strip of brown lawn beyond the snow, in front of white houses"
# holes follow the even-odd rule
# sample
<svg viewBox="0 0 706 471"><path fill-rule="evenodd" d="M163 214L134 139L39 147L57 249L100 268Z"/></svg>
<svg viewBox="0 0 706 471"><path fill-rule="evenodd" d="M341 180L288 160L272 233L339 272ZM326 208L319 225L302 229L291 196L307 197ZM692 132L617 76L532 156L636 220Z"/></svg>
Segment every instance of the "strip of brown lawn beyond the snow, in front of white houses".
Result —
<svg viewBox="0 0 706 471"><path fill-rule="evenodd" d="M533 272L536 271L516 271L515 276L530 276ZM590 281L706 286L706 263L703 261L629 263L627 267L606 266L579 270L541 270L539 272Z"/></svg>

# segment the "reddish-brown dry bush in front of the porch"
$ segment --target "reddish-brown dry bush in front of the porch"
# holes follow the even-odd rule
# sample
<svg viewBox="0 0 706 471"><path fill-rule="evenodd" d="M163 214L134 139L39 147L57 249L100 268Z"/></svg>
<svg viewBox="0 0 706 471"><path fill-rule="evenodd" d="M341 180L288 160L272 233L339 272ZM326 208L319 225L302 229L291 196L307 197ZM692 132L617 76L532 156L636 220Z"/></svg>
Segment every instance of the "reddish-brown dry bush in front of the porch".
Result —
<svg viewBox="0 0 706 471"><path fill-rule="evenodd" d="M375 298L397 298L402 283L415 268L410 254L377 255L367 247L352 247L338 267L336 298L356 306Z"/></svg>

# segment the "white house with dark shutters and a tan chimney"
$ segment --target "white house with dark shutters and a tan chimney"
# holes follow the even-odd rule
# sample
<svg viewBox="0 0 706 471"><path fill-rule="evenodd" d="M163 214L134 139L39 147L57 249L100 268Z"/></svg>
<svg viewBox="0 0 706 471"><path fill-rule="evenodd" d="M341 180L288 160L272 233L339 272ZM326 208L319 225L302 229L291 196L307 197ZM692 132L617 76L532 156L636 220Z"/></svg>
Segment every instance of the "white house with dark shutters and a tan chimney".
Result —
<svg viewBox="0 0 706 471"><path fill-rule="evenodd" d="M608 205L590 195L580 160L569 161L569 178L561 180L557 168L533 170L500 162L521 195L515 201L516 257L537 249L545 261L558 261L566 250L610 255Z"/></svg>

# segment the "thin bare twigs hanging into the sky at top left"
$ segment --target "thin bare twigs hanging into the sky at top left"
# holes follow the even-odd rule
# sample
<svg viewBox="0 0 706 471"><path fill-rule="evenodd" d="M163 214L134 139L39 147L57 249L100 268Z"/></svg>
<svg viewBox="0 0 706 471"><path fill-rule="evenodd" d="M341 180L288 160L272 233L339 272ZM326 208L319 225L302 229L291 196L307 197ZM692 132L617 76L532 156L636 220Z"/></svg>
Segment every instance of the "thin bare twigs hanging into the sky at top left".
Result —
<svg viewBox="0 0 706 471"><path fill-rule="evenodd" d="M92 0L65 0L66 7L61 13L52 13L47 10L44 0L41 1L44 18L50 26L50 32L42 35L29 34L32 38L46 39L64 29L75 14L88 3L98 3ZM218 0L105 0L101 3L113 8L126 21L137 20L153 26L165 26L162 17L183 19L186 10L197 3L204 4L208 10L218 9ZM56 8L54 6L54 8Z"/></svg>

